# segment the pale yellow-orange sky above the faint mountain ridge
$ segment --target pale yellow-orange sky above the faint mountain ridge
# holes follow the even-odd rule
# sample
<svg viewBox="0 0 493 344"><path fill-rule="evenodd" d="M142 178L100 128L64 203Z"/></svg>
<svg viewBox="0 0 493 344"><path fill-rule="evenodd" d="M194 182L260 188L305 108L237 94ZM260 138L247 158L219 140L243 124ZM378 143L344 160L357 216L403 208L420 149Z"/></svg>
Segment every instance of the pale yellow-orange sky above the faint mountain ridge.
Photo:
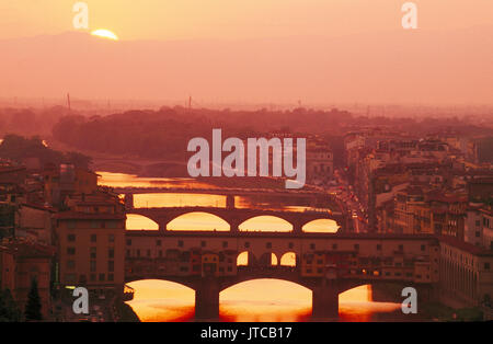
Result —
<svg viewBox="0 0 493 344"><path fill-rule="evenodd" d="M0 38L73 30L76 0L1 0ZM345 35L402 30L405 0L85 0L90 30L122 39ZM415 0L419 26L493 25L492 0Z"/></svg>

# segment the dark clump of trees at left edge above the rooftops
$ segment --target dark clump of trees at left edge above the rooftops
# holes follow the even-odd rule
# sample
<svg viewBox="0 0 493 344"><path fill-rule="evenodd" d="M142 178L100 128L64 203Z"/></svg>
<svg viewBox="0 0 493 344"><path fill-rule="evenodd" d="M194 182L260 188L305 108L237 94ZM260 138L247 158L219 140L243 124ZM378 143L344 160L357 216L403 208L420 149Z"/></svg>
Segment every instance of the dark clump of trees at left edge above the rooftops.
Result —
<svg viewBox="0 0 493 344"><path fill-rule="evenodd" d="M91 158L79 152L60 152L45 145L38 136L25 138L15 134L7 135L0 145L0 158L23 162L27 158L38 158L43 165L47 163L72 163L80 168L89 168Z"/></svg>

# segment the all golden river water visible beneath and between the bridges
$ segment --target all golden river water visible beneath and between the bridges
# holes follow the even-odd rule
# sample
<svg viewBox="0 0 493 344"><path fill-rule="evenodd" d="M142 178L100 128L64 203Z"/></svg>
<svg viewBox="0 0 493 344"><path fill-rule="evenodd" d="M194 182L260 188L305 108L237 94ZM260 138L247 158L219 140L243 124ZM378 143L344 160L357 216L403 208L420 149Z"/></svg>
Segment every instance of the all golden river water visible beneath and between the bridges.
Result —
<svg viewBox="0 0 493 344"><path fill-rule="evenodd" d="M98 172L99 183L113 187L217 187L191 179L149 179L130 174ZM221 195L197 194L141 194L134 198L136 207L160 206L226 206ZM238 197L237 207L270 207L303 211L312 209L308 199L268 199L266 197ZM320 209L320 207L318 207ZM322 210L326 210L323 209ZM240 230L287 231L289 225L272 217L260 217L244 222ZM157 230L157 223L135 215L127 216L127 230ZM229 230L226 222L207 214L182 216L169 225L171 230ZM335 232L331 220L309 223L306 231ZM289 260L289 257L287 257ZM277 257L273 257L274 261ZM289 264L289 262L280 262ZM135 289L135 298L127 303L141 321L193 321L194 290L165 280L138 280L128 284ZM220 320L222 321L310 321L311 291L297 284L278 279L254 279L232 286L220 294ZM340 321L402 321L405 316L397 302L376 302L371 286L360 286L340 295Z"/></svg>

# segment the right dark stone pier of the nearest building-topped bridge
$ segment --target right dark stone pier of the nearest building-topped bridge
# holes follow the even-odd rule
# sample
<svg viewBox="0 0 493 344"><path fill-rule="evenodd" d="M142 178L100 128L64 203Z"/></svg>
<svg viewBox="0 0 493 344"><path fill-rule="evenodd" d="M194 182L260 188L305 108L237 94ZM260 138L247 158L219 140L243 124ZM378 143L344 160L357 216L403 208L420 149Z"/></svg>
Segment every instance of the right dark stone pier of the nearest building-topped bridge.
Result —
<svg viewBox="0 0 493 344"><path fill-rule="evenodd" d="M312 289L312 317L317 320L339 320L339 288L335 282L325 280Z"/></svg>

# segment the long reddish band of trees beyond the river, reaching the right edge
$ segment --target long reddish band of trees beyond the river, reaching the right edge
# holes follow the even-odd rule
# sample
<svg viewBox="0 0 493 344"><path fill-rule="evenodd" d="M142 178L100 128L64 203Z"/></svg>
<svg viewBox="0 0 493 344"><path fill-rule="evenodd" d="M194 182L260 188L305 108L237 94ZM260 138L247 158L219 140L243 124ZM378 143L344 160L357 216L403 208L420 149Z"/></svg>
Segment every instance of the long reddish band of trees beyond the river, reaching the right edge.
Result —
<svg viewBox="0 0 493 344"><path fill-rule="evenodd" d="M108 116L70 115L54 126L54 137L82 150L140 158L185 160L190 139L210 139L213 128L225 137L260 137L265 133L317 134L334 150L335 164L343 163L343 136L365 127L385 127L411 135L454 131L463 136L489 135L491 128L467 118L392 118L354 116L346 111L295 108L293 111L230 111L228 108L161 107L159 111L128 111Z"/></svg>

